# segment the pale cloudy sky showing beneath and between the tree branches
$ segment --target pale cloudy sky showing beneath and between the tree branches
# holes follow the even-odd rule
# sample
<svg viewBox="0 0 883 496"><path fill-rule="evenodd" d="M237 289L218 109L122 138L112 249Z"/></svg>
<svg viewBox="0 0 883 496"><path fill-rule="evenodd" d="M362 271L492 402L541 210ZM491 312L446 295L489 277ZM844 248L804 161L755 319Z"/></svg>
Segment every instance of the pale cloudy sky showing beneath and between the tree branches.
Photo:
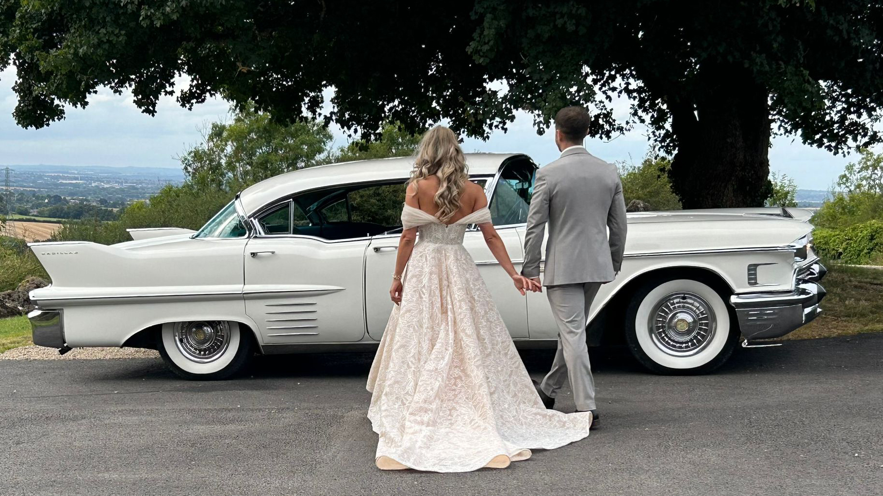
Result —
<svg viewBox="0 0 883 496"><path fill-rule="evenodd" d="M42 130L25 130L12 120L15 107L14 70L0 72L0 165L53 164L70 166L180 167L175 157L200 140L199 128L222 120L228 104L220 99L188 111L175 100L163 97L155 117L142 114L129 94L115 95L102 90L90 98L86 109L69 108L62 122ZM628 110L627 102L615 105L617 115ZM341 130L334 129L336 144L346 144ZM589 151L601 159L625 160L638 164L648 142L645 130L605 142L586 141ZM539 164L558 156L552 135L538 136L529 115L517 115L507 133L496 132L487 141L466 139L465 152L524 152ZM828 189L853 159L834 156L801 144L793 137L775 137L770 150L770 166L788 174L803 189Z"/></svg>

